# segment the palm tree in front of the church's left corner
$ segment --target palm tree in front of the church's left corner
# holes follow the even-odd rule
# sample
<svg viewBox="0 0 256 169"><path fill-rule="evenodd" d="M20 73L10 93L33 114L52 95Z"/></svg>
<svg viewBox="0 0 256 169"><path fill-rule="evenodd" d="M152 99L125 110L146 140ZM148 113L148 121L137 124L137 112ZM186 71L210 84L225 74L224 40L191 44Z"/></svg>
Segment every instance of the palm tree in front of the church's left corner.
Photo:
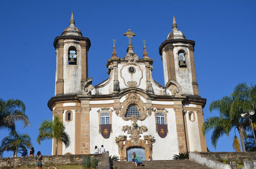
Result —
<svg viewBox="0 0 256 169"><path fill-rule="evenodd" d="M65 132L65 126L57 115L53 120L44 120L39 128L38 144L41 144L41 140L48 139L55 139L55 155L57 155L58 143L64 143L66 148L70 145L70 136Z"/></svg>

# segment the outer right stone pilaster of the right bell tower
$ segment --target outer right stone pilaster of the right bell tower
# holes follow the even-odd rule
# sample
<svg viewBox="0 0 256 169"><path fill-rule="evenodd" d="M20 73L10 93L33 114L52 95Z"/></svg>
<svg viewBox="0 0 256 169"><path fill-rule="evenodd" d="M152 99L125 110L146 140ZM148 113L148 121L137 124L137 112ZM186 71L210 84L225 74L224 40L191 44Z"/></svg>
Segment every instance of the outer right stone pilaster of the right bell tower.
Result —
<svg viewBox="0 0 256 169"><path fill-rule="evenodd" d="M199 95L198 83L197 83L196 74L195 74L194 46L192 44L189 44L189 57L190 57L190 66L191 66L191 73L192 73L193 92L194 92L194 95Z"/></svg>

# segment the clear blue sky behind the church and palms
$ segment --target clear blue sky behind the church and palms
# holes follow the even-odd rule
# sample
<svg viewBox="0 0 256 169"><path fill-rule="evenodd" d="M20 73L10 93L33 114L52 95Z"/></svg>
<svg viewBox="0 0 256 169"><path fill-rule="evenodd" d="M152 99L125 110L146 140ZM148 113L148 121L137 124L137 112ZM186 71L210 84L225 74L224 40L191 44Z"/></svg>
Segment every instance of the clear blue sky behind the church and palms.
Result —
<svg viewBox="0 0 256 169"><path fill-rule="evenodd" d="M204 119L218 115L209 113L209 103L230 95L241 82L255 79L255 1L236 0L24 0L3 1L0 6L0 98L15 98L26 103L31 126L18 130L32 137L35 151L51 154L51 140L36 143L38 128L51 119L47 101L55 90L56 36L69 26L74 11L76 27L91 40L88 53L89 77L93 85L108 78L106 63L112 55L112 39L116 39L118 57L124 57L131 29L134 52L143 57L143 43L148 43L148 56L154 59L153 78L164 85L160 44L172 31L172 16L186 39L195 40L195 66L201 97L207 98ZM8 135L1 130L0 140ZM210 151L233 151L232 137L221 137L217 148L206 135ZM11 153L5 153L5 157Z"/></svg>

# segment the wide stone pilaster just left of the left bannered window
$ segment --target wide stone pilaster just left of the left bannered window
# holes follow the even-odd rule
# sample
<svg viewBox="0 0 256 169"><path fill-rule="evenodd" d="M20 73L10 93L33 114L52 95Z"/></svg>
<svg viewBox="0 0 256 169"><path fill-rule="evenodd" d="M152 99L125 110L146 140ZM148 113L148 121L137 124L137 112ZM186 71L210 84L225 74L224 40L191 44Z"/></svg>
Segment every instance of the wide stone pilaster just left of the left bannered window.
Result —
<svg viewBox="0 0 256 169"><path fill-rule="evenodd" d="M90 154L90 99L81 100L81 154Z"/></svg>

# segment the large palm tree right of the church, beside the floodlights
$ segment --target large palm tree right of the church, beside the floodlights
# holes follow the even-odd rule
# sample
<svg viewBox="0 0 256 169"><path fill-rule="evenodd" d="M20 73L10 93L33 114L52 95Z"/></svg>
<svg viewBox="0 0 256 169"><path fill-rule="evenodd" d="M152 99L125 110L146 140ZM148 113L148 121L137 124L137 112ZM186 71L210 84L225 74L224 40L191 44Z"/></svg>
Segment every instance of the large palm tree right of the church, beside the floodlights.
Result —
<svg viewBox="0 0 256 169"><path fill-rule="evenodd" d="M229 136L230 131L234 129L235 137L233 138L233 148L239 152L241 150L239 139L236 137L237 129L242 149L245 152L244 136L246 137L246 131L250 131L251 129L248 119L242 118L241 113L246 113L250 109L255 109L255 103L256 86L239 83L230 97L224 96L221 100L215 100L210 103L210 112L212 112L212 110L217 110L220 115L206 119L202 127L204 135L209 132L209 130L213 129L211 141L212 145L216 148L218 138L224 134Z"/></svg>

